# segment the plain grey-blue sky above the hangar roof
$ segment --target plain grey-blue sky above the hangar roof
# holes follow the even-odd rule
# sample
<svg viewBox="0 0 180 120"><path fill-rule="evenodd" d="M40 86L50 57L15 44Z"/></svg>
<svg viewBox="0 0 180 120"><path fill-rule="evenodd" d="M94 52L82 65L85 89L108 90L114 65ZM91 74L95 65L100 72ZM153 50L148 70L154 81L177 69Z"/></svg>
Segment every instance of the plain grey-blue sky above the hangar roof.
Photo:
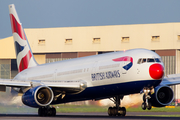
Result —
<svg viewBox="0 0 180 120"><path fill-rule="evenodd" d="M0 38L12 36L9 4L24 28L180 22L180 0L0 0Z"/></svg>

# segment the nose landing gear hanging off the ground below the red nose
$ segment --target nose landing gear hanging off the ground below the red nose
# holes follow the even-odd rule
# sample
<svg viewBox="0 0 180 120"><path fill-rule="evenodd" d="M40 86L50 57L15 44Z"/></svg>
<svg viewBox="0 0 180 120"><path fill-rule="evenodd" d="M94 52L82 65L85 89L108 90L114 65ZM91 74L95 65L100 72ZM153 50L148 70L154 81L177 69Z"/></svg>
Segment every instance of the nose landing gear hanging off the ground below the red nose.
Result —
<svg viewBox="0 0 180 120"><path fill-rule="evenodd" d="M144 92L144 95L143 95L143 103L141 105L142 109L143 110L151 110L152 108L152 105L151 105L151 102L150 102L150 94L153 93L154 89L149 89L149 88L144 88L143 89L143 92Z"/></svg>

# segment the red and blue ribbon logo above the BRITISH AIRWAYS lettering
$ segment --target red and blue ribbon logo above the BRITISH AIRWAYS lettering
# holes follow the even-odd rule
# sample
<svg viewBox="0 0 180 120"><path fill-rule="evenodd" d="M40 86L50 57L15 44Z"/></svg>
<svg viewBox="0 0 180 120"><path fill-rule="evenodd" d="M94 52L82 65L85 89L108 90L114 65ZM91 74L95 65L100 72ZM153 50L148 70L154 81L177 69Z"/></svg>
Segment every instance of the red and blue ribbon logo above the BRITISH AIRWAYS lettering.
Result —
<svg viewBox="0 0 180 120"><path fill-rule="evenodd" d="M129 56L120 57L120 58L115 58L115 59L113 59L113 61L115 61L115 62L121 62L121 61L130 62L130 63L128 63L127 65L123 66L123 68L124 68L125 70L129 70L129 69L132 67L132 65L133 65L133 58L132 58L132 57L129 57Z"/></svg>

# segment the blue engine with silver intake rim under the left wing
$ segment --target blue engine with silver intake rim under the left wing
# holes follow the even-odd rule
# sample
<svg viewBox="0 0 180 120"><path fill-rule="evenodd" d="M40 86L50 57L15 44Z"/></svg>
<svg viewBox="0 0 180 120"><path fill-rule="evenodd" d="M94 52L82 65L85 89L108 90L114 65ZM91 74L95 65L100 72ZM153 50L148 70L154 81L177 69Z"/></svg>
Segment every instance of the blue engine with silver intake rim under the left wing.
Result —
<svg viewBox="0 0 180 120"><path fill-rule="evenodd" d="M26 91L22 96L22 102L30 107L49 105L54 98L53 91L47 86L37 86Z"/></svg>

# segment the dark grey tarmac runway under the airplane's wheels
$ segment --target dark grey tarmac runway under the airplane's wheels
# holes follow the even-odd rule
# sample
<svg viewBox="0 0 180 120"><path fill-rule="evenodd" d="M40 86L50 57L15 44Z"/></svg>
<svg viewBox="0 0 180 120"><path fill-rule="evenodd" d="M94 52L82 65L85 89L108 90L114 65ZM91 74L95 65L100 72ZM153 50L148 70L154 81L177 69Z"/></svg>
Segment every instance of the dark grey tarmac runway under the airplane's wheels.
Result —
<svg viewBox="0 0 180 120"><path fill-rule="evenodd" d="M148 116L151 115L151 116ZM39 117L30 114L0 114L0 120L179 120L180 117L156 117L153 115L180 115L180 112L128 112L125 117L109 117L107 113L57 113L55 117Z"/></svg>

